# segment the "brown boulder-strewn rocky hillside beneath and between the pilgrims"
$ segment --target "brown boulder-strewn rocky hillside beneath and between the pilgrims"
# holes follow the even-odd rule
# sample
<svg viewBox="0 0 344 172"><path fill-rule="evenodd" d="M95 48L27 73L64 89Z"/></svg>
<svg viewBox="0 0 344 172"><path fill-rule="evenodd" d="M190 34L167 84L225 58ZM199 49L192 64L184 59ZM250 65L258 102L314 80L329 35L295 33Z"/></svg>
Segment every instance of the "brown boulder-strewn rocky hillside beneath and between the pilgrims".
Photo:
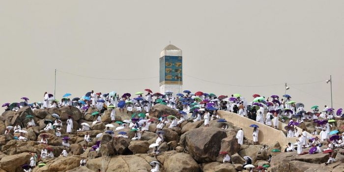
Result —
<svg viewBox="0 0 344 172"><path fill-rule="evenodd" d="M32 112L29 108L22 108L16 112L4 112L0 116L0 133L4 133L5 127L13 125L16 122L27 123L26 115L33 115L38 126L24 129L28 131L28 142L13 140L13 135L0 136L0 172L23 172L21 166L29 164L29 152L40 154L45 144L36 143L45 133L48 136L50 147L54 149L55 156L59 155L63 149L62 140L56 137L55 131L50 130L46 133L42 130L45 127L44 119L54 118L51 114L56 113L61 116L64 122L62 133L65 133L65 121L68 115L74 119L74 131L72 134L62 134L71 138L69 155L67 157L58 156L54 159L42 159L46 163L44 167L36 167L33 172L95 172L97 169L103 169L104 172L150 172L151 161L159 161L162 166L161 172L248 172L242 169L244 156L253 158L253 164L257 166L271 165L268 169L271 172L343 172L344 155L337 153L338 161L334 164L324 166L328 159L328 154L315 155L296 155L296 152L273 154L271 164L266 160L272 149L281 149L276 141L273 145L268 145L268 150L260 151L261 145L253 145L252 141L246 139L243 145L239 145L235 138L236 128L227 122L228 129L222 129L222 125L216 121L210 121L209 127L203 126L203 120L197 122L184 121L180 128L165 127L163 131L165 142L160 145L160 151L157 156L151 154L152 150L148 148L149 144L155 143L157 134L155 134L156 124L149 126L149 131L143 133L140 141L132 141L134 134L129 128L122 129L128 133L129 139L114 139L109 134L103 134L100 138L95 138L99 133L103 133L105 125L111 122L110 112L106 111L102 116L102 122L92 125L93 116L90 115L96 109L89 109L88 114L82 113L72 107L53 108L50 110L36 110ZM165 105L157 105L149 112L150 118L157 118L161 115L175 115L174 111ZM116 111L116 120L130 119L130 115L125 112ZM77 133L76 129L81 128L80 124L86 122L91 126L92 131L89 135L92 142L88 143L88 148L84 152L82 145L86 132ZM113 123L115 126L118 124ZM307 124L306 124L307 125ZM115 131L117 135L119 131ZM101 141L99 154L91 151L91 146L97 141ZM284 148L284 147L283 147ZM71 152L73 151L73 154ZM223 155L220 151L227 151L231 155L232 163L222 163ZM340 150L338 151L340 152ZM84 167L80 166L81 157L87 157L87 163ZM323 170L323 171L319 171Z"/></svg>

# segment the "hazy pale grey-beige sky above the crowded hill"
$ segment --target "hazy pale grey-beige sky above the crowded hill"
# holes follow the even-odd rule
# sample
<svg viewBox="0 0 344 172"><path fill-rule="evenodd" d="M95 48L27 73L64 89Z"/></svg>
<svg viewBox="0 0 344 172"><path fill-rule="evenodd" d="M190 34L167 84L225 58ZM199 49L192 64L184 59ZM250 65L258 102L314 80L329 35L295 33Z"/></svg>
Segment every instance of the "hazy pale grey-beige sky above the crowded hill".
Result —
<svg viewBox="0 0 344 172"><path fill-rule="evenodd" d="M54 92L55 69L149 78L57 72L58 99L91 89L158 92L160 52L171 41L183 51L183 89L250 100L283 95L287 82L293 100L310 108L330 105L332 75L333 106L344 107L343 7L343 0L0 0L0 104L42 101Z"/></svg>

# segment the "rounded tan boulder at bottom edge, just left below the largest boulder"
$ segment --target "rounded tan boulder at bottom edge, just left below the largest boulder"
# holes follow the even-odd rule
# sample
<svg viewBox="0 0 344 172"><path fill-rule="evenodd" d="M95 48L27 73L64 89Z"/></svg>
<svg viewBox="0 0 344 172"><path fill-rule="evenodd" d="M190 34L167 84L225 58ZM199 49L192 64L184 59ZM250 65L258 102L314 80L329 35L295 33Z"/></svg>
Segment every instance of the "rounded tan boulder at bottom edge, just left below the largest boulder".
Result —
<svg viewBox="0 0 344 172"><path fill-rule="evenodd" d="M165 172L200 172L200 167L190 154L176 153L164 162Z"/></svg>

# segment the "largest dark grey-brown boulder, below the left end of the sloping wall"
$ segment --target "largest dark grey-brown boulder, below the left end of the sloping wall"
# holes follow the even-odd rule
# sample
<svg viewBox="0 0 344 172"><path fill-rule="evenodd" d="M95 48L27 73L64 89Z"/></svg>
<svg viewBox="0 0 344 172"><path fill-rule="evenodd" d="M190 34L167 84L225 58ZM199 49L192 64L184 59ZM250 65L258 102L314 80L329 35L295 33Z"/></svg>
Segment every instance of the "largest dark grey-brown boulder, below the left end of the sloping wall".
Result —
<svg viewBox="0 0 344 172"><path fill-rule="evenodd" d="M221 140L226 137L223 129L201 127L185 133L185 145L197 162L213 162L219 154Z"/></svg>

